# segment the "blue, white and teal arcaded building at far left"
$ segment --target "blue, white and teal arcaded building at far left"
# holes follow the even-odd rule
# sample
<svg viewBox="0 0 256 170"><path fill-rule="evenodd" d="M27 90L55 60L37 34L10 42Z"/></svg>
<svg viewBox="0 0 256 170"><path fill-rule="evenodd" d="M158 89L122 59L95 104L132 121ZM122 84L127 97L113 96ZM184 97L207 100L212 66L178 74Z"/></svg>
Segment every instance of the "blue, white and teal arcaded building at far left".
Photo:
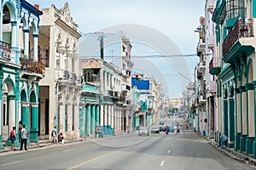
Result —
<svg viewBox="0 0 256 170"><path fill-rule="evenodd" d="M0 148L3 149L2 141L10 144L9 133L12 127L18 129L20 121L29 132L28 144L38 142L38 82L44 77L44 67L38 63L38 25L42 14L38 5L34 7L20 0L2 1L1 7ZM19 144L17 138L15 146Z"/></svg>

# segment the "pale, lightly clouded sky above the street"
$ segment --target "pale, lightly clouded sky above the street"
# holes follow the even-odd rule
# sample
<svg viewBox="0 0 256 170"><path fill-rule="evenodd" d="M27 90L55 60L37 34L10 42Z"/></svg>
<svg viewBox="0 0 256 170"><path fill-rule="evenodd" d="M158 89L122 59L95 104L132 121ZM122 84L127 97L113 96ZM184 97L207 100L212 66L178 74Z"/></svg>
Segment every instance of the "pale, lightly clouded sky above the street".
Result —
<svg viewBox="0 0 256 170"><path fill-rule="evenodd" d="M154 77L169 98L194 82L199 18L206 0L28 0L40 8L68 3L81 34L123 31L132 44L133 72ZM109 54L114 51L110 52ZM193 55L194 54L194 55ZM81 54L80 54L81 55ZM136 57L141 56L141 57Z"/></svg>

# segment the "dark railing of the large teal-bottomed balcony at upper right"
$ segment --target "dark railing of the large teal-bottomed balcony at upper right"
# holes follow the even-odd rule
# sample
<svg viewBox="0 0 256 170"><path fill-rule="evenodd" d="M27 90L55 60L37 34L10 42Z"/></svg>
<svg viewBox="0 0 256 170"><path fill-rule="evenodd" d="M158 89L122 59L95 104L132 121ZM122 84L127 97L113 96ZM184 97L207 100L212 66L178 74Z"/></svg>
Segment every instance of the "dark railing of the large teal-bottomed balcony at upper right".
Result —
<svg viewBox="0 0 256 170"><path fill-rule="evenodd" d="M253 20L245 19L246 22L243 22L242 19L236 21L235 26L225 38L223 43L223 54L224 56L228 54L230 48L232 48L240 37L253 37Z"/></svg>

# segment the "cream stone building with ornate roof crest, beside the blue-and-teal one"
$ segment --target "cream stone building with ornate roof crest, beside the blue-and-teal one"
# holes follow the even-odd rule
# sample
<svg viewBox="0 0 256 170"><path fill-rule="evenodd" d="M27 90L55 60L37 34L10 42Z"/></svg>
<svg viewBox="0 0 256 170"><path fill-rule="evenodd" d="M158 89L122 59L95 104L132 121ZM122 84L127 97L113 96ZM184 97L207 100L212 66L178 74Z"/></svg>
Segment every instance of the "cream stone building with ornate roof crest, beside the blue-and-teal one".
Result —
<svg viewBox="0 0 256 170"><path fill-rule="evenodd" d="M68 3L63 8L42 8L39 30L45 77L39 83L39 135L49 136L56 126L66 139L79 139L79 26Z"/></svg>

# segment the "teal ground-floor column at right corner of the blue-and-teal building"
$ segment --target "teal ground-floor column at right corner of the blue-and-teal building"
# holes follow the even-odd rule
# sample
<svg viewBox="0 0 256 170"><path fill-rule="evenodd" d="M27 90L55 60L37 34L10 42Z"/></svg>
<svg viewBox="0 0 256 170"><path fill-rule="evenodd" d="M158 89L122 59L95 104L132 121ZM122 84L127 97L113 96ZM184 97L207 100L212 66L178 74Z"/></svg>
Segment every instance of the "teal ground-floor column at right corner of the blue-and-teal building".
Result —
<svg viewBox="0 0 256 170"><path fill-rule="evenodd" d="M32 143L38 143L38 104L32 103L32 109L31 109L31 129L30 129L30 135L31 139L30 142Z"/></svg>

